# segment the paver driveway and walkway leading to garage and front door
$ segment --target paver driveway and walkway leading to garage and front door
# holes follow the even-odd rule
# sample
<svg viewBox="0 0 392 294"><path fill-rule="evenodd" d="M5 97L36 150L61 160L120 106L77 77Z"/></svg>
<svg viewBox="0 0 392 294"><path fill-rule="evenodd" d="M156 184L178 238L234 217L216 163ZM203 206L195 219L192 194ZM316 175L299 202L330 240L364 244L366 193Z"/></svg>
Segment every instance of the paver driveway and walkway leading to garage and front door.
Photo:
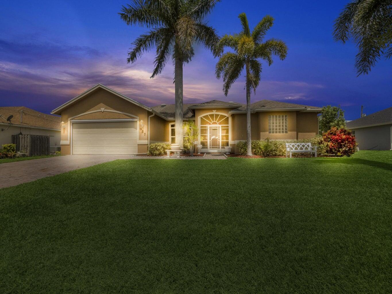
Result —
<svg viewBox="0 0 392 294"><path fill-rule="evenodd" d="M0 165L0 188L16 186L35 181L47 176L82 169L99 163L116 159L178 159L162 156L133 156L133 155L67 155L49 158L8 162ZM206 154L204 157L181 157L182 159L226 159L223 154Z"/></svg>

